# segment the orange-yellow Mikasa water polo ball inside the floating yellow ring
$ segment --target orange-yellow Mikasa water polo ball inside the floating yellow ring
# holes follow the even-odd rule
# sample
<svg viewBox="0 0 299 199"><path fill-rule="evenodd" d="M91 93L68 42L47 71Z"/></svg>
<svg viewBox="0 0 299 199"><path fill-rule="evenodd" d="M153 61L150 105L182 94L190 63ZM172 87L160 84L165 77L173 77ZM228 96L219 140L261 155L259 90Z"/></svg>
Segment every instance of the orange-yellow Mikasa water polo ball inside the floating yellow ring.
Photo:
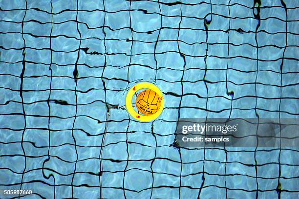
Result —
<svg viewBox="0 0 299 199"><path fill-rule="evenodd" d="M140 113L149 116L160 109L161 97L148 89L138 94L135 104Z"/></svg>

